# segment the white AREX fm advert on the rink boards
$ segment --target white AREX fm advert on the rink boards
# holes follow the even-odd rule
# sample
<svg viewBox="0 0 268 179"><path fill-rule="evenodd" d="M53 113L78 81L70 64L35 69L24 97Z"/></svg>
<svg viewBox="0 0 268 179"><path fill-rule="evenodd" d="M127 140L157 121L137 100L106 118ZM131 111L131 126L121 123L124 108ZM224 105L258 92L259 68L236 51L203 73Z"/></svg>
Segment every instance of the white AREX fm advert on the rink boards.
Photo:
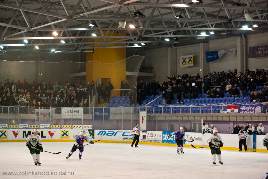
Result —
<svg viewBox="0 0 268 179"><path fill-rule="evenodd" d="M162 131L140 131L140 141L162 143Z"/></svg>

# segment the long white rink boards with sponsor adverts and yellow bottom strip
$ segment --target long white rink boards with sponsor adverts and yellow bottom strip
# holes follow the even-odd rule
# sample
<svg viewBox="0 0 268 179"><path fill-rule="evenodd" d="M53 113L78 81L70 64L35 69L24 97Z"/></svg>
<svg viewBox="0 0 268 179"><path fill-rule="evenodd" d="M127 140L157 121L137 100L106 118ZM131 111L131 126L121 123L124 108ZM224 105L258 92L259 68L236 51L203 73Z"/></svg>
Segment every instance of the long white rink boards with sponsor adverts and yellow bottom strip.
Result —
<svg viewBox="0 0 268 179"><path fill-rule="evenodd" d="M79 132L84 132L84 135L91 140L102 140L99 142L105 143L131 143L133 134L130 130L86 130L86 129L38 129L39 135L43 142L74 142ZM168 135L172 132L168 131L140 131L140 143L163 146L176 146L175 139L169 138ZM6 129L0 130L0 142L24 142L32 134L32 129ZM185 132L184 147L208 146L207 139L212 134L200 134L196 132ZM222 150L239 150L238 134L219 134L221 135L224 147ZM174 136L173 136L174 137ZM247 151L268 152L263 146L264 135L248 135L247 136ZM244 149L243 149L244 150Z"/></svg>

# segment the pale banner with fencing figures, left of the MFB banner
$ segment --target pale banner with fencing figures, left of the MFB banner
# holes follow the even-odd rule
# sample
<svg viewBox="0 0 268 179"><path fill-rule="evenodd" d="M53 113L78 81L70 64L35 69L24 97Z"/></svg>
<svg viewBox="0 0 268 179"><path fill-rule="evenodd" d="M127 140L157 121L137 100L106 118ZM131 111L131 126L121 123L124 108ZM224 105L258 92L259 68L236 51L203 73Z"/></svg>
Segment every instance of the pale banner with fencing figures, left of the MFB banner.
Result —
<svg viewBox="0 0 268 179"><path fill-rule="evenodd" d="M35 121L40 122L40 124L56 124L55 113L56 108L35 109Z"/></svg>

